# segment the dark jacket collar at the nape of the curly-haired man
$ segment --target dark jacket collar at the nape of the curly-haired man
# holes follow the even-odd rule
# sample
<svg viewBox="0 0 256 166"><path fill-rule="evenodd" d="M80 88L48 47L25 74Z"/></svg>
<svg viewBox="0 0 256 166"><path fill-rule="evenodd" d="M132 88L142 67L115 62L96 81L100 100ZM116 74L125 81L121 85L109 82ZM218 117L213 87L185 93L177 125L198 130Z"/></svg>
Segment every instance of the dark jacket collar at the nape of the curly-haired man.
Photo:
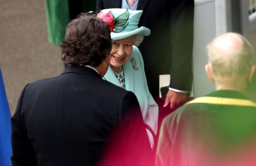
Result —
<svg viewBox="0 0 256 166"><path fill-rule="evenodd" d="M94 71L89 67L84 67L84 66L67 66L62 72L62 74L65 74L65 73L79 73L79 74L85 74L85 75L96 76L101 78L101 76L96 71Z"/></svg>

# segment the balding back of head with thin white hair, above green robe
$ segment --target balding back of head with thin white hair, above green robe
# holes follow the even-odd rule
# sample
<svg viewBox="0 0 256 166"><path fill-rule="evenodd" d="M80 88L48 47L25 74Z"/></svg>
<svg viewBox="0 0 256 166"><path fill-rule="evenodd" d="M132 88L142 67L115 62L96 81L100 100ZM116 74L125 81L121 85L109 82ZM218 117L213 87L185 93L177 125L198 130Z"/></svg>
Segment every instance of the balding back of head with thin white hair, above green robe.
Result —
<svg viewBox="0 0 256 166"><path fill-rule="evenodd" d="M248 82L254 51L245 37L237 33L220 35L208 44L207 51L216 86L239 88Z"/></svg>

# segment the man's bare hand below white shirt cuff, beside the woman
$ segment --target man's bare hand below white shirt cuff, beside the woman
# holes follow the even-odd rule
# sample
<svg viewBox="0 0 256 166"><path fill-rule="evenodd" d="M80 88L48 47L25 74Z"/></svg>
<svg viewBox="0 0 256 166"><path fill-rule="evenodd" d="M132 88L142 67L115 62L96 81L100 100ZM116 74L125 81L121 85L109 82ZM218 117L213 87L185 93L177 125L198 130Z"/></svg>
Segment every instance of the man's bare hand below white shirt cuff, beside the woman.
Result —
<svg viewBox="0 0 256 166"><path fill-rule="evenodd" d="M181 102L184 102L186 98L186 93L169 90L166 94L165 104L163 105L163 107L168 106L168 104L170 103L170 108L174 109L175 106L179 105Z"/></svg>

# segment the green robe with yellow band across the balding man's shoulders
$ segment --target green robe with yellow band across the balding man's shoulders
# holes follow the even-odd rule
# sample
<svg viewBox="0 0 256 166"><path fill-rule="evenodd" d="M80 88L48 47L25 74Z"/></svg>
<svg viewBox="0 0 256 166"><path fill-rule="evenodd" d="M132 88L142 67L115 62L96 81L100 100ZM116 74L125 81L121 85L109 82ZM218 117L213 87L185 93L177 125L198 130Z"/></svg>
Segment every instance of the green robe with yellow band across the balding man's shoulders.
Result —
<svg viewBox="0 0 256 166"><path fill-rule="evenodd" d="M163 120L157 166L256 165L256 103L230 90L206 97Z"/></svg>

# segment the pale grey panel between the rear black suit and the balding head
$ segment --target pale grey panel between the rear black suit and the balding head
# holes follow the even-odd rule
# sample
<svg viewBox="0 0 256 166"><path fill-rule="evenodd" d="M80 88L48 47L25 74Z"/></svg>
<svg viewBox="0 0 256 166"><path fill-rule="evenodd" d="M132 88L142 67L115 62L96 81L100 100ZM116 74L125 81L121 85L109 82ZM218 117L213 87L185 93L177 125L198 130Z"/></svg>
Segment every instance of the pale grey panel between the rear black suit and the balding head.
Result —
<svg viewBox="0 0 256 166"><path fill-rule="evenodd" d="M215 89L205 73L208 62L206 44L216 36L214 0L195 0L193 75L194 97L203 96Z"/></svg>

